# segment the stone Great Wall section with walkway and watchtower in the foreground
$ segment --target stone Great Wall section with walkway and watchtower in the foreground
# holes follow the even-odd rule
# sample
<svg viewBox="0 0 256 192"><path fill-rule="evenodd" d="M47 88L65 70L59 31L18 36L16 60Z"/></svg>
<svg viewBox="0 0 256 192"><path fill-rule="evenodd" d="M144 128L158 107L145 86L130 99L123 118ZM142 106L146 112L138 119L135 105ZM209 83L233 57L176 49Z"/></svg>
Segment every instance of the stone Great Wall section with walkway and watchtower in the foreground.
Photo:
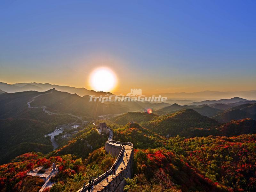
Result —
<svg viewBox="0 0 256 192"><path fill-rule="evenodd" d="M124 178L131 178L132 176L133 144L130 142L114 141L113 130L107 127L106 123L100 123L96 126L99 127L99 132L108 133L108 141L105 144L105 150L107 153L117 158L107 173L94 179L93 191L122 192L125 185ZM116 175L114 175L114 167ZM89 184L87 184L77 192L88 191L89 187Z"/></svg>

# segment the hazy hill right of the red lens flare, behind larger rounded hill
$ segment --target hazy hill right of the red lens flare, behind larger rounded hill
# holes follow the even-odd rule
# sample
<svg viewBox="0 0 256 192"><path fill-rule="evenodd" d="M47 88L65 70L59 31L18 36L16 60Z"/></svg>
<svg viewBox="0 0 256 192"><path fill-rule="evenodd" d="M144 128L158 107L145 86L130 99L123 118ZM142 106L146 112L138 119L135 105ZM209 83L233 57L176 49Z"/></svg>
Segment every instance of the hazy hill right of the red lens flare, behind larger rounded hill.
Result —
<svg viewBox="0 0 256 192"><path fill-rule="evenodd" d="M221 109L209 107L208 105L201 105L201 106L183 105L182 106L182 105L178 105L177 103L174 103L173 105L165 108L161 108L158 111L165 112L165 113L173 113L181 109L194 109L196 112L200 113L201 115L208 116L208 117L215 116L223 111Z"/></svg>

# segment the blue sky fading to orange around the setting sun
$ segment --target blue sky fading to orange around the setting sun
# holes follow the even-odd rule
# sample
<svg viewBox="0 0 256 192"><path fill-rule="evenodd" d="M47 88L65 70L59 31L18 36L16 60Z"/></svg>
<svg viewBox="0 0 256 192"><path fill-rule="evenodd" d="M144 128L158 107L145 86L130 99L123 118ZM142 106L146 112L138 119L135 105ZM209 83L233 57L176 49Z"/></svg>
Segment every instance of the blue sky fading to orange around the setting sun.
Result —
<svg viewBox="0 0 256 192"><path fill-rule="evenodd" d="M1 1L0 81L112 92L256 89L256 1Z"/></svg>

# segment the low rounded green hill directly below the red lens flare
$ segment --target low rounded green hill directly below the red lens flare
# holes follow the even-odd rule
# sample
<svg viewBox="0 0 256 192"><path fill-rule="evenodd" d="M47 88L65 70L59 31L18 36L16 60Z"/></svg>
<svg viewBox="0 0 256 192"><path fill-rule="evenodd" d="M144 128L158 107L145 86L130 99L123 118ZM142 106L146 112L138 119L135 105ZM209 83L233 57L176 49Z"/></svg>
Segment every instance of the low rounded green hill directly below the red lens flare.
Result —
<svg viewBox="0 0 256 192"><path fill-rule="evenodd" d="M158 115L155 115L153 113L148 114L148 113L145 113L145 112L144 113L129 112L129 113L122 114L120 116L113 117L109 120L112 121L113 123L116 123L116 124L125 125L125 124L130 123L130 122L141 123L141 122L151 121L154 117L157 117L157 116Z"/></svg>

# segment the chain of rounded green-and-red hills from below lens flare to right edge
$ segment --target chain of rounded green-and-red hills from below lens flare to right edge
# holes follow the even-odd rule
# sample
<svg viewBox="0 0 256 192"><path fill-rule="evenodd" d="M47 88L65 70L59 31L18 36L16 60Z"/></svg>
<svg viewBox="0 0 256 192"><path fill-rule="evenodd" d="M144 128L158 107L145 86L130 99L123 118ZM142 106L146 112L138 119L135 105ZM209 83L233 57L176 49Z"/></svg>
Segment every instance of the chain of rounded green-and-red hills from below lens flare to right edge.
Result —
<svg viewBox="0 0 256 192"><path fill-rule="evenodd" d="M202 116L193 109L158 116L140 112L129 112L109 119L116 124L140 123L145 128L165 137L184 136L234 136L256 133L256 120L245 118L220 124L214 119ZM135 123L136 122L136 123Z"/></svg>

